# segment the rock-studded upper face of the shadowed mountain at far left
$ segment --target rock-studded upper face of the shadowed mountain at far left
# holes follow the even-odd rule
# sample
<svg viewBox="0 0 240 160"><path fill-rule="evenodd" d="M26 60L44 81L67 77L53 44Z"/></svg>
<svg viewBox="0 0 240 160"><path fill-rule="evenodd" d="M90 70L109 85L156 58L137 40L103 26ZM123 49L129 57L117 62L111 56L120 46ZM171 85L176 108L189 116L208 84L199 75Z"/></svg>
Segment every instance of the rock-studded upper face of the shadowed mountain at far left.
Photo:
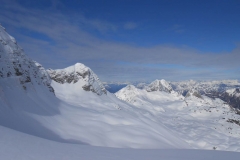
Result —
<svg viewBox="0 0 240 160"><path fill-rule="evenodd" d="M26 89L26 83L44 85L54 92L46 70L28 58L16 40L0 25L0 79L16 77Z"/></svg>

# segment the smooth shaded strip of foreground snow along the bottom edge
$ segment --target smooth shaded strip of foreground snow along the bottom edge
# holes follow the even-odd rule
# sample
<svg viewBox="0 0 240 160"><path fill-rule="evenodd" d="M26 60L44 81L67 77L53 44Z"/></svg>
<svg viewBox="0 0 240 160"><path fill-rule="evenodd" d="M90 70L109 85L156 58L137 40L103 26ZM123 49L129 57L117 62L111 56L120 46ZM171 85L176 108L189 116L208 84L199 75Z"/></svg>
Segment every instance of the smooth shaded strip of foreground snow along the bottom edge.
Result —
<svg viewBox="0 0 240 160"><path fill-rule="evenodd" d="M238 160L239 153L175 149L119 149L59 143L0 126L0 155L4 160Z"/></svg>

